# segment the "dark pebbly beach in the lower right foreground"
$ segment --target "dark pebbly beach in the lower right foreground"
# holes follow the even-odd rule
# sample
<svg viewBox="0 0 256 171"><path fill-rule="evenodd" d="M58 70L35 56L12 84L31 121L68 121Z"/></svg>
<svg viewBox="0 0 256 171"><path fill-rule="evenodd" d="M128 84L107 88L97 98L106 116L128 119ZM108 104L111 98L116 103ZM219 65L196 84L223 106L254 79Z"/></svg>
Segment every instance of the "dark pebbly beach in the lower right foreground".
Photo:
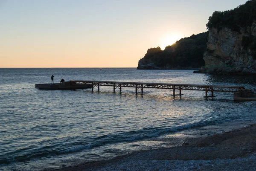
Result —
<svg viewBox="0 0 256 171"><path fill-rule="evenodd" d="M172 148L136 151L61 171L256 171L256 124L186 139ZM55 171L60 171L55 170Z"/></svg>

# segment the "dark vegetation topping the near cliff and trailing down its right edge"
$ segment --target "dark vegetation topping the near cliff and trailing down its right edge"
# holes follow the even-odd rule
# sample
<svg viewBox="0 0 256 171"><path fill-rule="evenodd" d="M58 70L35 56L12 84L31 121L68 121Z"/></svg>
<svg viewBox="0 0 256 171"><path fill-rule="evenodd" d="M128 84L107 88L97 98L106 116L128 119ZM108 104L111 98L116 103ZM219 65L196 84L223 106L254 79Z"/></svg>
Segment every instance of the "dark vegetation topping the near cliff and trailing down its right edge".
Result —
<svg viewBox="0 0 256 171"><path fill-rule="evenodd" d="M219 12L215 11L206 24L208 29L216 28L218 32L226 27L234 32L243 35L241 52L249 52L253 59L256 59L256 0L249 0L244 5L240 5L235 9ZM254 24L254 25L253 25ZM254 33L253 33L254 32Z"/></svg>

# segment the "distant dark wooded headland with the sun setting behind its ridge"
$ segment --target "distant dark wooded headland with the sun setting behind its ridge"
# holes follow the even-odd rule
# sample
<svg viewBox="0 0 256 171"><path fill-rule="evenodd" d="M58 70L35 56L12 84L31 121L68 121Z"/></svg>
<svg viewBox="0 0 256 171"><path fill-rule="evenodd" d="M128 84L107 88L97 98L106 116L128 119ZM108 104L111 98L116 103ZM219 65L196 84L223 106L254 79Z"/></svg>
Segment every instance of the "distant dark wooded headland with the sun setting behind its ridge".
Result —
<svg viewBox="0 0 256 171"><path fill-rule="evenodd" d="M203 54L206 49L207 32L192 35L176 41L164 50L155 47L148 49L140 59L138 70L194 69L205 65Z"/></svg>

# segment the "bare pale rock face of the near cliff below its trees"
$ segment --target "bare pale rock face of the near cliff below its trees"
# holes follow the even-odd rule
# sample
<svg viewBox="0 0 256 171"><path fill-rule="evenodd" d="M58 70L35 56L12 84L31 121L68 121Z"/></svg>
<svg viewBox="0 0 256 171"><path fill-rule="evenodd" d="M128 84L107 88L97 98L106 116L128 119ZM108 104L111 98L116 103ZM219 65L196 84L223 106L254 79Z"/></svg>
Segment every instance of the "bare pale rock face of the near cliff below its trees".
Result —
<svg viewBox="0 0 256 171"><path fill-rule="evenodd" d="M227 27L219 31L210 28L203 57L205 64L223 66L222 72L256 73L255 38L256 21L248 28L241 28L240 32Z"/></svg>

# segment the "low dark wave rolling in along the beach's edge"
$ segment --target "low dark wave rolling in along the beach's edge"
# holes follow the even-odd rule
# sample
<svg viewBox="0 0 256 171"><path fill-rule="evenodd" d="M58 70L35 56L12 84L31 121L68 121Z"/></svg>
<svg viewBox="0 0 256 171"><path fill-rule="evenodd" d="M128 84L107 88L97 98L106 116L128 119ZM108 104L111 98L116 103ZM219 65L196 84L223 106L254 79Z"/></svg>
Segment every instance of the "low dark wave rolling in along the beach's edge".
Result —
<svg viewBox="0 0 256 171"><path fill-rule="evenodd" d="M52 148L41 148L38 151L34 151L33 153L25 154L17 157L9 157L7 159L1 159L0 164L8 164L12 162L24 162L31 158L36 157L47 157L49 155L62 155L69 154L82 151L84 149L95 148L107 144L119 143L119 142L132 142L132 141L140 141L146 138L157 137L162 134L177 132L180 130L185 130L189 128L198 128L206 125L212 125L215 122L205 120L193 124L180 125L176 127L158 127L158 128L144 128L141 130L134 130L128 132L122 132L118 134L109 133L108 135L94 137L91 139L92 142L87 142L88 140L79 142L73 142L69 144L69 147L52 147Z"/></svg>

